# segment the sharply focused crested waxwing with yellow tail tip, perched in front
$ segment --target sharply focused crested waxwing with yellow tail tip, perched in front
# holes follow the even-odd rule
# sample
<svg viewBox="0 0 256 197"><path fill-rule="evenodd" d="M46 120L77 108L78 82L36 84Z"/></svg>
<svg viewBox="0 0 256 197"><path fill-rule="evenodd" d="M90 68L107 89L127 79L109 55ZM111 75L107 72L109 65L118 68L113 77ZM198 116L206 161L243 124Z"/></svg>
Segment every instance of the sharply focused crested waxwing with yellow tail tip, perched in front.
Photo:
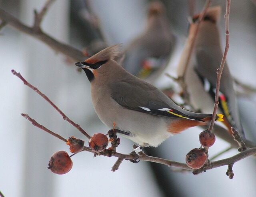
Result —
<svg viewBox="0 0 256 197"><path fill-rule="evenodd" d="M212 114L195 113L176 105L163 92L124 70L114 60L119 46L110 46L84 62L76 62L91 84L94 109L109 128L123 131L142 147L158 146L173 134L205 125ZM221 114L216 116L222 121Z"/></svg>

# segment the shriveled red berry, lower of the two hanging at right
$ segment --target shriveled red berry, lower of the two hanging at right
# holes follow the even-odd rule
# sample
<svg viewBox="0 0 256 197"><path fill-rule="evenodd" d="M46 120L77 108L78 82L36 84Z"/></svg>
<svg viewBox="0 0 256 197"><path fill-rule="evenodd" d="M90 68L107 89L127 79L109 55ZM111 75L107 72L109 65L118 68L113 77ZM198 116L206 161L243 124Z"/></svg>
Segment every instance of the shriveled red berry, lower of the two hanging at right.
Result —
<svg viewBox="0 0 256 197"><path fill-rule="evenodd" d="M201 149L194 148L186 155L186 164L193 169L203 167L206 162L207 156Z"/></svg>

